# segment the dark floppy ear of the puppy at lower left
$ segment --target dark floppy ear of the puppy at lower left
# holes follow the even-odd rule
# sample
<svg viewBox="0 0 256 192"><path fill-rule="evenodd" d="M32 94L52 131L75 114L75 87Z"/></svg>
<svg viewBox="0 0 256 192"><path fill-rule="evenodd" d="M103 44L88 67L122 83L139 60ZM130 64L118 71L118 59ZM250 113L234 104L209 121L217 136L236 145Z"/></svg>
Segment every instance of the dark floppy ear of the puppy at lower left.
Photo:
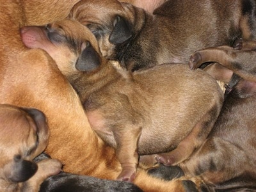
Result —
<svg viewBox="0 0 256 192"><path fill-rule="evenodd" d="M22 159L20 156L14 157L9 173L6 177L12 182L24 182L30 179L37 171L38 166L32 161Z"/></svg>

